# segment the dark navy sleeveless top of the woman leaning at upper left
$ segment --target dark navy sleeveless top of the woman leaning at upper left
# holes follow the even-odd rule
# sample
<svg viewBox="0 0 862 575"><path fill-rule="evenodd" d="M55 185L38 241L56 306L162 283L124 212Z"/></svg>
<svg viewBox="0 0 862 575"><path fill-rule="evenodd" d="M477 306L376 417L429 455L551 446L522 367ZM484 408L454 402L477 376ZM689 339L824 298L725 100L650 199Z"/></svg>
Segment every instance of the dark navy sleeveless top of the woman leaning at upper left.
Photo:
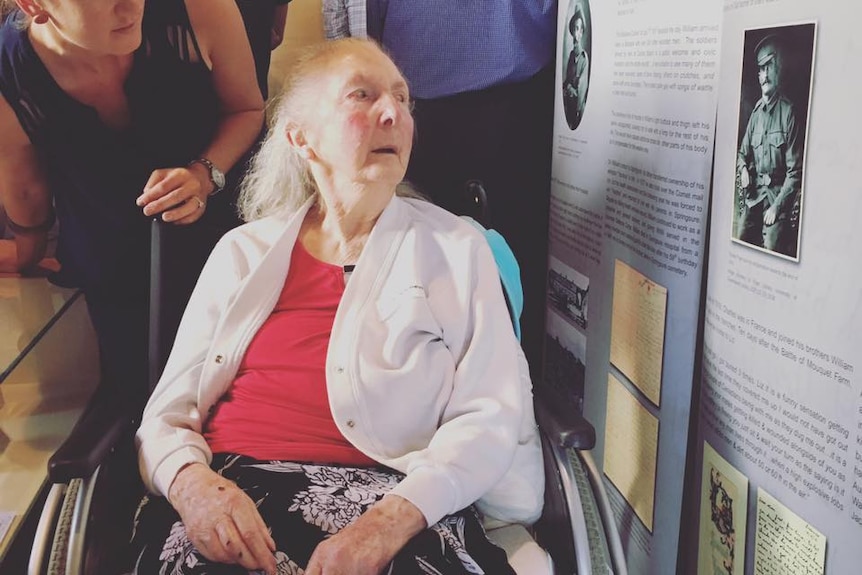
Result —
<svg viewBox="0 0 862 575"><path fill-rule="evenodd" d="M219 120L185 3L146 3L143 42L125 84L131 122L122 130L55 83L17 18L11 14L0 27L0 93L35 146L53 194L57 282L111 299L146 298L149 218L135 199L154 169L198 157Z"/></svg>

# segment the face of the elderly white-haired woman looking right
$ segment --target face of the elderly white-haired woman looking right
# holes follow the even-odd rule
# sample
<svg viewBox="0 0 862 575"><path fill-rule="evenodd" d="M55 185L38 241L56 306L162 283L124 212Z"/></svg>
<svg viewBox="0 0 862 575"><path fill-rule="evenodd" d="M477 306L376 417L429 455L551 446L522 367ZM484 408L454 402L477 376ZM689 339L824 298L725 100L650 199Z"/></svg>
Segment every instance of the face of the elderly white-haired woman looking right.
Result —
<svg viewBox="0 0 862 575"><path fill-rule="evenodd" d="M351 181L394 188L404 178L413 145L407 82L372 46L354 48L327 72L307 126L318 164Z"/></svg>

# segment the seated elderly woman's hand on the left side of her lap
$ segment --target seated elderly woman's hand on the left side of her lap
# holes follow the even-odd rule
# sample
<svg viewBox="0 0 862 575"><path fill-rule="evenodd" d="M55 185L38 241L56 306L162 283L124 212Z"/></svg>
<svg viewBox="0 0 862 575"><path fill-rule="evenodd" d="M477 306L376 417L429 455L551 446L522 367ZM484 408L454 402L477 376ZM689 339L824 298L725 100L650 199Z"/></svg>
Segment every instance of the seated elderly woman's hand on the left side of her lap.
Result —
<svg viewBox="0 0 862 575"><path fill-rule="evenodd" d="M275 542L254 502L234 482L192 463L177 473L168 500L204 557L276 573Z"/></svg>

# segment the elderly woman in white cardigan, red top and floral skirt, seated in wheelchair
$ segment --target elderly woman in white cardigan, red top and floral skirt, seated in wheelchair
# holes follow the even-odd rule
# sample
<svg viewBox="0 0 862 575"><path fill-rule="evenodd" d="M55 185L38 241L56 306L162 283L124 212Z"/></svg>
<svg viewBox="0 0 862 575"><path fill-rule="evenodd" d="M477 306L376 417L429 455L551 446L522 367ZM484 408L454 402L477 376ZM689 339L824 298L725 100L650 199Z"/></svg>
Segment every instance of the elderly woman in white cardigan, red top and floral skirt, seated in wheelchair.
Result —
<svg viewBox="0 0 862 575"><path fill-rule="evenodd" d="M412 140L377 45L299 59L136 435L137 573L512 573L483 521L542 511L528 370Z"/></svg>

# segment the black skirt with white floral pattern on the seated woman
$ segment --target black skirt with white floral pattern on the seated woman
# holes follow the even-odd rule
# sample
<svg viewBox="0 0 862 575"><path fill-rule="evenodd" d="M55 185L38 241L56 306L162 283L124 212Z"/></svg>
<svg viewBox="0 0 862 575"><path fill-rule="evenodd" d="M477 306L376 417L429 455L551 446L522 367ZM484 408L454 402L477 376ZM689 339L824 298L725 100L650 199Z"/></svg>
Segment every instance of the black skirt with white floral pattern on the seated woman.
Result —
<svg viewBox="0 0 862 575"><path fill-rule="evenodd" d="M276 544L279 575L299 575L317 545L355 521L403 475L387 468L259 461L217 454L212 468L258 504ZM198 553L166 499L145 497L132 548L137 575L237 575L238 565L213 563ZM262 572L254 572L262 573ZM425 529L395 556L387 575L514 575L505 552L488 541L472 507Z"/></svg>

